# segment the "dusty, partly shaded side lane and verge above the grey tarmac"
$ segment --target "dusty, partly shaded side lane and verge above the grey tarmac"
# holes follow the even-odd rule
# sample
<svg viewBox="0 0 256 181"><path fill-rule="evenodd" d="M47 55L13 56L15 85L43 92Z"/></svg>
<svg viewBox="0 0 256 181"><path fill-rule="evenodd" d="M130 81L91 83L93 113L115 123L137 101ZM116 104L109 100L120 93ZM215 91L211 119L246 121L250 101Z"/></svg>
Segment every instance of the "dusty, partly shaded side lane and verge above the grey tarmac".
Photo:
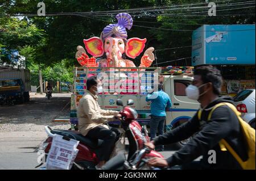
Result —
<svg viewBox="0 0 256 181"><path fill-rule="evenodd" d="M44 131L44 125L55 126L52 120L69 116L71 94L31 95L30 102L0 106L0 132ZM59 125L63 125L60 123Z"/></svg>

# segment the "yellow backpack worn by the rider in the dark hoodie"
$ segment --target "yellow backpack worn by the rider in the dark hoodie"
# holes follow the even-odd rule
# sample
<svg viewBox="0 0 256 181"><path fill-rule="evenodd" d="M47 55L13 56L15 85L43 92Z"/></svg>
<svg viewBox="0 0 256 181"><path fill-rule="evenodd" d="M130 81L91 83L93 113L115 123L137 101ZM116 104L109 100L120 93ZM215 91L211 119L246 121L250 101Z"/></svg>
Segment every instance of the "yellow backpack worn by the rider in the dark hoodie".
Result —
<svg viewBox="0 0 256 181"><path fill-rule="evenodd" d="M207 119L208 121L210 120L210 117L212 116L213 111L220 106L228 106L236 113L242 128L243 137L245 138L245 141L247 143L248 159L247 161L243 162L242 159L239 157L239 155L236 153L236 151L234 151L234 149L224 139L222 139L218 143L220 145L221 151L227 151L227 150L230 151L233 157L236 158L237 162L240 163L242 169L255 170L255 129L251 128L249 124L243 121L241 117L241 113L238 112L237 108L234 107L234 105L231 103L216 104L208 115L208 119ZM202 110L199 110L198 112L199 120L201 120L201 113L202 113Z"/></svg>

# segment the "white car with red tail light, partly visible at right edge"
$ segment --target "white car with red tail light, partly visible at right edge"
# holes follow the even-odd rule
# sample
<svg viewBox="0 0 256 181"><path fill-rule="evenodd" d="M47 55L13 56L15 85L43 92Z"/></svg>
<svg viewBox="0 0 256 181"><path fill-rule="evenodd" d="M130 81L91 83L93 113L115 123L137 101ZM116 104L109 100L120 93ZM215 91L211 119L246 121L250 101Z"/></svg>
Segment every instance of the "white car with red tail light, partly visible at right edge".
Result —
<svg viewBox="0 0 256 181"><path fill-rule="evenodd" d="M255 89L246 89L234 96L237 110L241 112L242 119L255 129Z"/></svg>

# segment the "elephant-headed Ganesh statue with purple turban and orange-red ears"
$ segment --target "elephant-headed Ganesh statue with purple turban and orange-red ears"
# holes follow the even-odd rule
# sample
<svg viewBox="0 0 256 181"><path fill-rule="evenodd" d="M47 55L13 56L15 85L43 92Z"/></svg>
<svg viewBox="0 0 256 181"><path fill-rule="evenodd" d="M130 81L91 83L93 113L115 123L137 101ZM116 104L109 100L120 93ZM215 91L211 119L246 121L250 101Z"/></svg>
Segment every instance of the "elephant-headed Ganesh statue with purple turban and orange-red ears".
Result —
<svg viewBox="0 0 256 181"><path fill-rule="evenodd" d="M108 68L134 68L136 67L132 60L127 59L138 57L143 52L146 38L139 39L132 37L127 39L127 30L133 26L133 19L127 13L120 13L117 16L116 24L109 24L101 32L100 37L91 37L84 39L84 45L87 52L92 55L89 57L85 49L77 47L76 58L83 67L108 67ZM139 68L151 66L155 60L154 48L148 48L142 58ZM97 59L96 59L97 58Z"/></svg>

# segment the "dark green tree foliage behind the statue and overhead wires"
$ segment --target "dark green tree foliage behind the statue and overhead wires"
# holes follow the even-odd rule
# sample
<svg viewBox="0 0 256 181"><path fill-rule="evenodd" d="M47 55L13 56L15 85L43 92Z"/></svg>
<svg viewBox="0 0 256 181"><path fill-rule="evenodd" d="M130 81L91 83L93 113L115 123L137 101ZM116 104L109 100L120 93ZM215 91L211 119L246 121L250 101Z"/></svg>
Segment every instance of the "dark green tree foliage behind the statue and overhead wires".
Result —
<svg viewBox="0 0 256 181"><path fill-rule="evenodd" d="M3 35L0 35L0 45L9 46L10 48L19 50L23 49L23 53L26 54L27 59L39 64L42 68L53 66L61 60L65 60L67 67L74 65L79 66L75 59L77 45L83 45L83 39L88 39L92 36L100 36L101 31L106 25L116 22L114 17L117 12L105 13L104 16L27 16L23 20L14 20L13 18L10 18L10 15L14 14L36 14L38 11L38 2L39 1L30 0L3 0L3 2L0 3L0 15L9 15L7 18L2 18L2 21L5 22L3 24L7 24L7 27L9 27L6 32L11 32L10 34L4 32ZM46 4L47 14L63 14L65 12L74 12L75 14L75 12L112 11L134 8L137 8L138 10L138 8L141 7L164 7L204 3L204 1L200 0L45 0L43 2ZM222 1L219 3L225 5ZM232 0L226 1L226 3L232 3ZM208 3L205 2L199 6L207 7ZM217 16L208 16L207 12L204 14L195 14L197 13L196 11L203 12L203 10L186 9L185 7L186 6L175 6L164 12L159 9L154 12L155 16L152 16L149 12L141 10L141 16L132 15L135 26L128 31L129 38L146 37L146 48L155 47L155 49L157 49L155 52L158 58L157 61L163 62L183 57L191 57L191 47L177 49L169 48L187 47L191 45L192 31L203 24L255 24L255 15L238 15L248 13L254 14L255 9L224 10L218 11ZM231 7L229 6L221 7L221 10L230 8ZM224 14L237 15L226 16ZM2 29L1 27L3 27L2 23L0 24L0 31ZM42 30L44 30L44 32L42 32ZM14 47L11 47L11 45ZM27 48L26 46L29 46L30 48ZM26 50L28 50L27 53ZM139 65L139 60L140 57L135 60L135 65ZM188 59L187 61L176 61L173 62L173 64L162 64L161 66L165 65L191 65L191 59Z"/></svg>

